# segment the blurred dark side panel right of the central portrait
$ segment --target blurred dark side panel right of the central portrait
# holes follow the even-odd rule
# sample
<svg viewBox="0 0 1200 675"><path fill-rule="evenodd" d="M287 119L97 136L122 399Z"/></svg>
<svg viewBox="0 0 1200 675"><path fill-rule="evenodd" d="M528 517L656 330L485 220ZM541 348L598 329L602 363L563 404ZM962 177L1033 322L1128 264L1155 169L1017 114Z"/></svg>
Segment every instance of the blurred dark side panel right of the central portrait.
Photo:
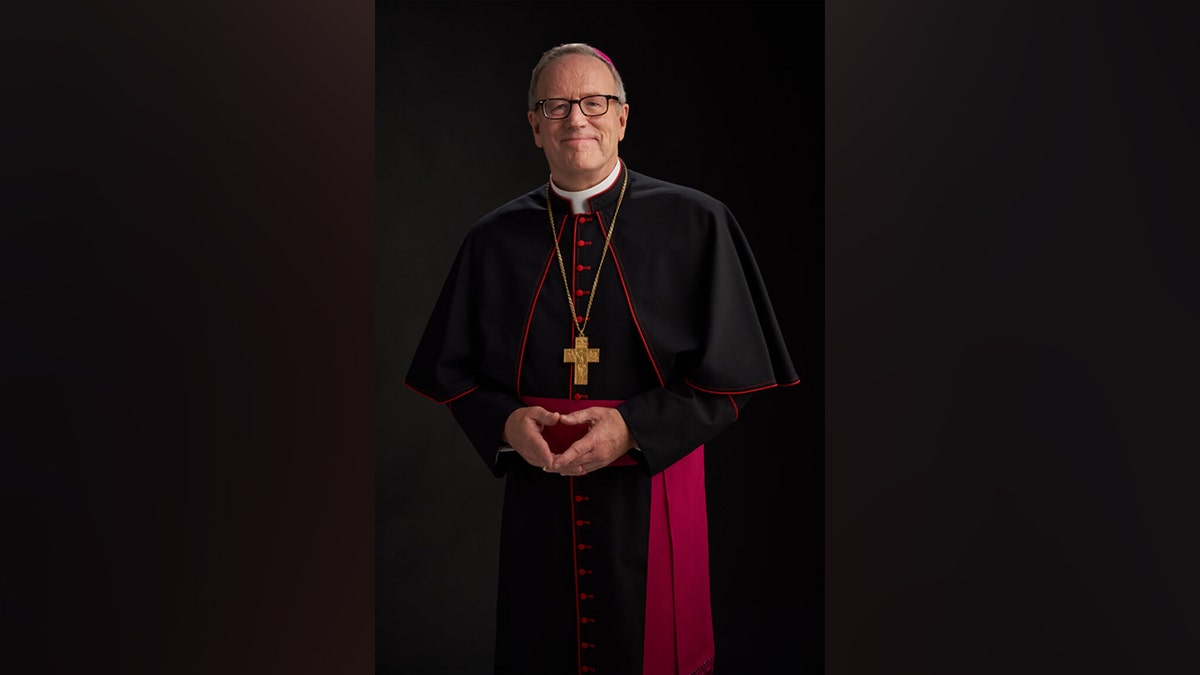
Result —
<svg viewBox="0 0 1200 675"><path fill-rule="evenodd" d="M830 5L828 673L1200 670L1195 28Z"/></svg>

